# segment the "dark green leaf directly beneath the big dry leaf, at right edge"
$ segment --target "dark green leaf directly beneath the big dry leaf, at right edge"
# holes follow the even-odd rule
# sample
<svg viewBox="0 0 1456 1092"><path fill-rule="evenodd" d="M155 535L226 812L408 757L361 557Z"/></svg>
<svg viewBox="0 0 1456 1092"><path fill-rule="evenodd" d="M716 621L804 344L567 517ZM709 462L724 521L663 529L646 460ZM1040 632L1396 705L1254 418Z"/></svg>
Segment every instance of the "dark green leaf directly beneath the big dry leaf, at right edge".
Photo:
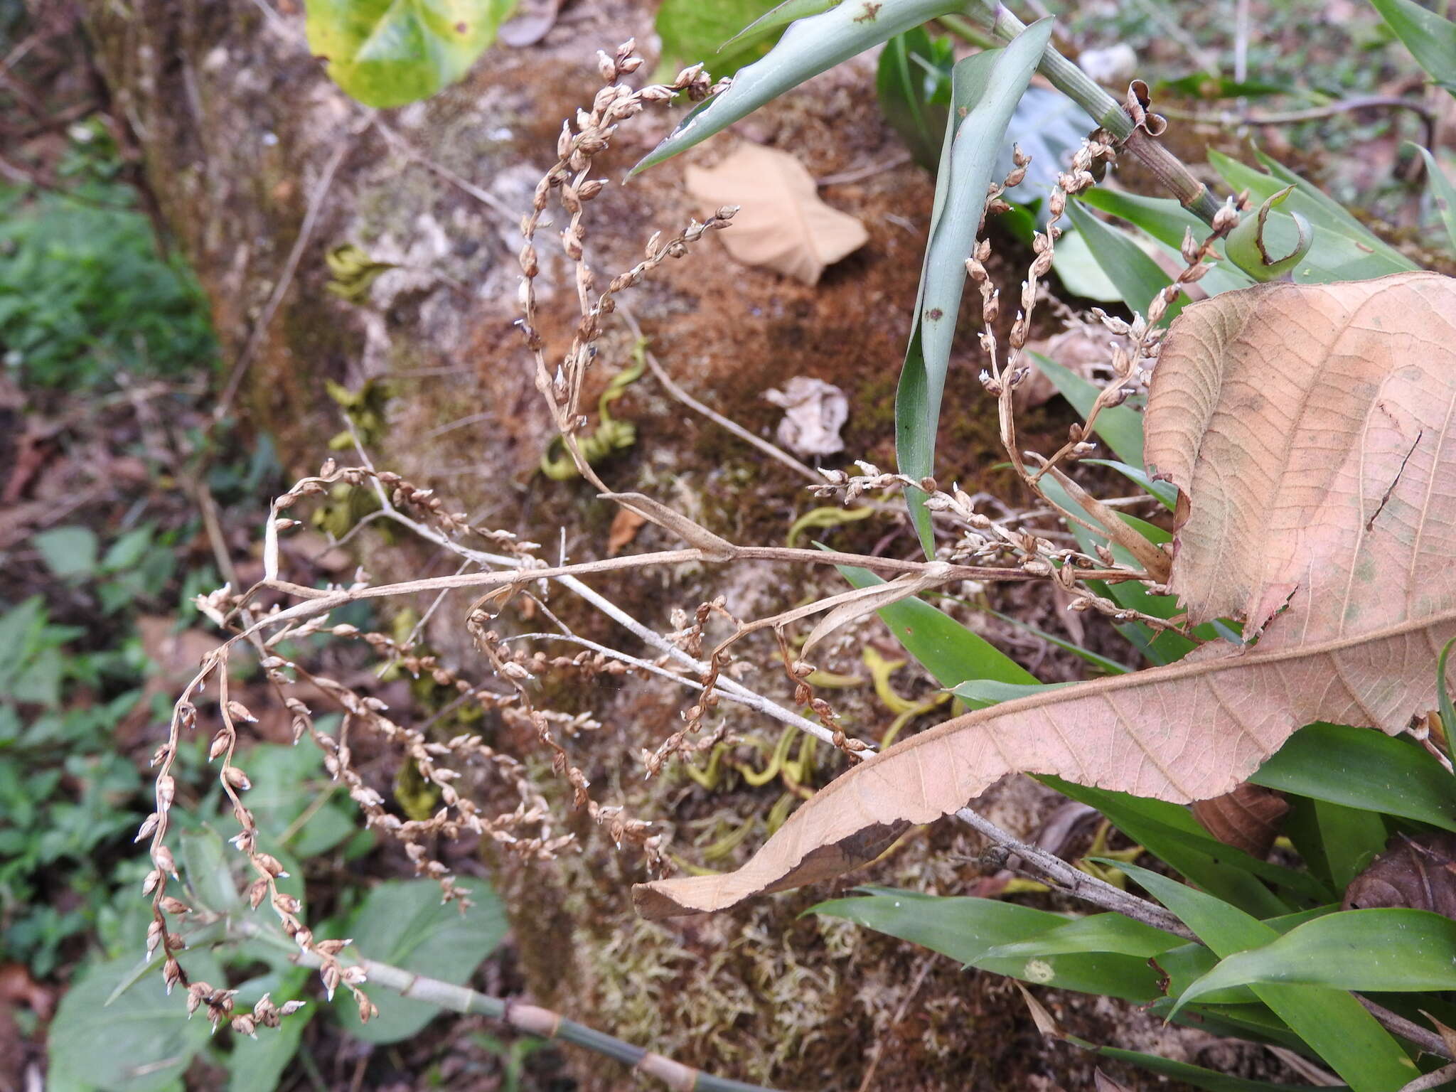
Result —
<svg viewBox="0 0 1456 1092"><path fill-rule="evenodd" d="M1249 780L1456 830L1452 776L1412 741L1370 728L1300 728Z"/></svg>

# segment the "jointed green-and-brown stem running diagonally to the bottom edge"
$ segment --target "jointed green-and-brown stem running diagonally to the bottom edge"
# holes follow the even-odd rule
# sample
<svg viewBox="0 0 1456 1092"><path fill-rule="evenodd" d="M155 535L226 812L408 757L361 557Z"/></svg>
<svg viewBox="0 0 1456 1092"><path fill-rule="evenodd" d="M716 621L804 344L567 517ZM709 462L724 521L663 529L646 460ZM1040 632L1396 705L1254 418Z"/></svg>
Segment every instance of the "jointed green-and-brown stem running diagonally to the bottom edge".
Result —
<svg viewBox="0 0 1456 1092"><path fill-rule="evenodd" d="M300 951L297 945L271 926L259 925L249 919L229 919L227 932L233 939L262 941L280 951L287 951L300 967L317 970L323 965L317 955ZM715 1077L692 1066L684 1066L661 1054L654 1054L645 1047L635 1047L613 1035L596 1031L584 1024L577 1024L549 1009L502 1000L501 997L488 997L467 986L427 978L422 974L376 962L374 960L351 958L347 951L341 952L339 961L345 965L363 967L368 983L393 990L400 997L422 1000L427 1005L448 1009L450 1012L489 1016L504 1021L511 1028L529 1035L537 1035L545 1040L562 1040L563 1042L594 1050L598 1054L606 1054L632 1069L657 1077L674 1092L773 1092L773 1089L763 1088L761 1085L745 1085L741 1080Z"/></svg>

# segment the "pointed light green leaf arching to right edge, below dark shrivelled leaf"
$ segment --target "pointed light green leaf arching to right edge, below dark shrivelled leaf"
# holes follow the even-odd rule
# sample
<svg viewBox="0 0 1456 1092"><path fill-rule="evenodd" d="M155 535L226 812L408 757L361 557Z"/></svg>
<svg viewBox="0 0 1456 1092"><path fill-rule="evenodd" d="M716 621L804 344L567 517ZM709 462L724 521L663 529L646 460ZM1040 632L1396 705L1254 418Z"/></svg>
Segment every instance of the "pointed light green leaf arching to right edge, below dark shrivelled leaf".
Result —
<svg viewBox="0 0 1456 1092"><path fill-rule="evenodd" d="M1251 951L1227 955L1179 1005L1230 986L1286 983L1417 993L1456 989L1456 922L1428 910L1326 914Z"/></svg>

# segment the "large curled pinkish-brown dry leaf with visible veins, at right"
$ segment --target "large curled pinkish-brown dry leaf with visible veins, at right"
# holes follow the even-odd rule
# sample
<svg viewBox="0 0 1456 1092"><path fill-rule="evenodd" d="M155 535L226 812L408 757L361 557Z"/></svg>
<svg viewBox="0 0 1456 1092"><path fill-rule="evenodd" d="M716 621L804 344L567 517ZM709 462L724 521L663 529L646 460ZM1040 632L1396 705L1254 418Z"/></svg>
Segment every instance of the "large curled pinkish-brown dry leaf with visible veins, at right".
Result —
<svg viewBox="0 0 1456 1092"><path fill-rule="evenodd" d="M1456 636L1456 281L1267 284L1184 310L1147 408L1179 489L1171 584L1257 644L948 721L849 770L741 869L641 884L649 917L719 910L871 859L1006 773L1187 802L1300 725L1402 729Z"/></svg>

